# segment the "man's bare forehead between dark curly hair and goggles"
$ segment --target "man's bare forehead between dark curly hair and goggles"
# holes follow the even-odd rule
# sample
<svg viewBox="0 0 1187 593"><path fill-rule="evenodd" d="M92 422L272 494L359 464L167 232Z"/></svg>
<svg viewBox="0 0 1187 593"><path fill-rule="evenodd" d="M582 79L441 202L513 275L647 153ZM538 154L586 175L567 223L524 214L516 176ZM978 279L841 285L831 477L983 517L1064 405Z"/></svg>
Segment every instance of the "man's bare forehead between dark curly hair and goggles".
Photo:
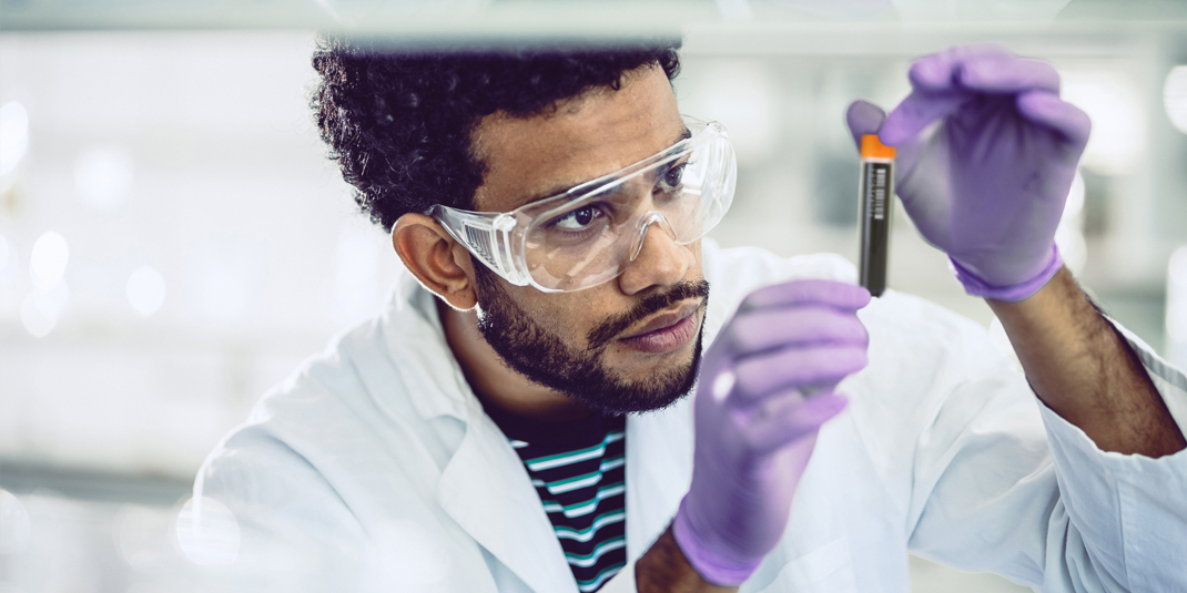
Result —
<svg viewBox="0 0 1187 593"><path fill-rule="evenodd" d="M532 117L493 114L474 133L485 166L481 211L514 210L655 154L684 134L664 70L628 72L618 90L596 89Z"/></svg>

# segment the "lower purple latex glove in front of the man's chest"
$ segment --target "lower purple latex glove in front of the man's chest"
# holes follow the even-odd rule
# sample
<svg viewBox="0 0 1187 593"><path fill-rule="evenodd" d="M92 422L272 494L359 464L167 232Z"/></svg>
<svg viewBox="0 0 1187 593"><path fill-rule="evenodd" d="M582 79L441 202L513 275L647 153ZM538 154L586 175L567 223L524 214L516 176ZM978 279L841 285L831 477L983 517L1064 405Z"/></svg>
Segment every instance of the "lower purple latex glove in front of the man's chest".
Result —
<svg viewBox="0 0 1187 593"><path fill-rule="evenodd" d="M865 366L856 311L869 301L840 282L769 286L705 352L692 486L672 533L706 581L741 584L782 538L817 432L848 403L833 389Z"/></svg>

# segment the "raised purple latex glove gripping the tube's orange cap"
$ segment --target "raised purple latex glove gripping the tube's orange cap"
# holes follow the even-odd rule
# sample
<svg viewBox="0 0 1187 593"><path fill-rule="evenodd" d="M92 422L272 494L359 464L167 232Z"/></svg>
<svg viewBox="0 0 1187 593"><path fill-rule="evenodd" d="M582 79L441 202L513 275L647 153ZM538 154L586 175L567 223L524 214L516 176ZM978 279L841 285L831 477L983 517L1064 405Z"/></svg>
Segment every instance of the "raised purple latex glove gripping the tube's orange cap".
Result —
<svg viewBox="0 0 1187 593"><path fill-rule="evenodd" d="M1088 116L1059 98L1049 64L998 45L922 57L909 78L910 95L890 115L864 101L849 106L855 141L877 133L897 147L903 208L948 254L969 294L1030 296L1062 266L1055 228Z"/></svg>

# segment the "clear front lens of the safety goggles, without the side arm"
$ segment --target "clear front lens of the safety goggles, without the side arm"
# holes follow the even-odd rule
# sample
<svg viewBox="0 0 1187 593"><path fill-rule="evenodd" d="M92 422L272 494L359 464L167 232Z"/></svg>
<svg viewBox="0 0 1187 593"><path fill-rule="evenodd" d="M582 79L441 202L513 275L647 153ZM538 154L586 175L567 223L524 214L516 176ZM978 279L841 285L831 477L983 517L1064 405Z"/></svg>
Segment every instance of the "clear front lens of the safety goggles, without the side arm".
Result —
<svg viewBox="0 0 1187 593"><path fill-rule="evenodd" d="M700 238L729 209L734 152L724 135L612 179L580 199L545 200L523 215L523 259L545 289L577 291L610 280L660 227L679 244Z"/></svg>

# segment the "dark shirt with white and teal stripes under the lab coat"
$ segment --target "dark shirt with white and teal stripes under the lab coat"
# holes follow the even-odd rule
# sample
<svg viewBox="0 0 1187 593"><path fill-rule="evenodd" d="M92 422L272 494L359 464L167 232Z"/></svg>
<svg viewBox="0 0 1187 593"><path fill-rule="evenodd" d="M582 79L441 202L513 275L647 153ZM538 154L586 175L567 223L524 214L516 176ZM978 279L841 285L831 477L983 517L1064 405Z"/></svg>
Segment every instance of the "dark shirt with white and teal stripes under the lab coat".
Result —
<svg viewBox="0 0 1187 593"><path fill-rule="evenodd" d="M485 408L523 461L578 591L597 591L627 563L626 417L539 422Z"/></svg>

